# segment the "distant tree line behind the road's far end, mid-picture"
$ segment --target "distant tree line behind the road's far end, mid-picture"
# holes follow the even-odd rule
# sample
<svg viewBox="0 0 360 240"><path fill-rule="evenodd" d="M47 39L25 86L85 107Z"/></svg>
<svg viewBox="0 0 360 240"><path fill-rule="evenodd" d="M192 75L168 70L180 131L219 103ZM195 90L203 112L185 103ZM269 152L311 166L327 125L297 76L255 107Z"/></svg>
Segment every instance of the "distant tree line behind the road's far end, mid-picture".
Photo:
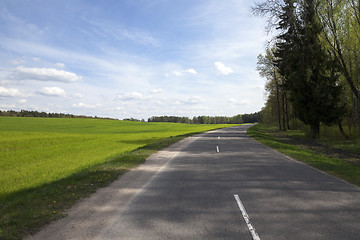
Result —
<svg viewBox="0 0 360 240"><path fill-rule="evenodd" d="M241 123L255 123L262 119L261 112L251 114L238 114L233 117L225 116L198 116L193 118L177 117L177 116L153 116L148 119L148 122L172 122L172 123L187 123L187 124L241 124Z"/></svg>

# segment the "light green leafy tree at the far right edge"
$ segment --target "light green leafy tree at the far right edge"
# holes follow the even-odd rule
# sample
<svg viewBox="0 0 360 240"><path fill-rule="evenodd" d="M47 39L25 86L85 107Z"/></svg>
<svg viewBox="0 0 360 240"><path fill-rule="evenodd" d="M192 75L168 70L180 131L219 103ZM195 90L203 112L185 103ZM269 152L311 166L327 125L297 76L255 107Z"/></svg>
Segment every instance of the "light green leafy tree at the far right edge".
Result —
<svg viewBox="0 0 360 240"><path fill-rule="evenodd" d="M343 102L347 105L348 126L356 128L360 125L360 1L322 0L319 16L324 44L338 62L347 85Z"/></svg>

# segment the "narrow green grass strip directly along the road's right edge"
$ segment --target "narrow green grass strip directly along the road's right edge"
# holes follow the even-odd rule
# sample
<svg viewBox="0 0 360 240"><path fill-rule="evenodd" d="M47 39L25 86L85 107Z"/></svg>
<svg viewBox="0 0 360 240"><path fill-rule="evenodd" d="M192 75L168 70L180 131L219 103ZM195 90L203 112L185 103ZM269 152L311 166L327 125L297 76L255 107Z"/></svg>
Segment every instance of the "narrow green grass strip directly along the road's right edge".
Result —
<svg viewBox="0 0 360 240"><path fill-rule="evenodd" d="M349 183L360 186L359 165L351 164L341 158L328 157L316 151L304 149L302 147L283 142L276 137L276 134L274 134L275 132L276 131L274 131L273 127L257 124L249 128L247 134L256 141L276 149L277 151L287 156L302 161ZM293 135L293 137L298 135L297 133L293 132L285 134ZM302 141L304 140L302 136L298 137L302 138Z"/></svg>

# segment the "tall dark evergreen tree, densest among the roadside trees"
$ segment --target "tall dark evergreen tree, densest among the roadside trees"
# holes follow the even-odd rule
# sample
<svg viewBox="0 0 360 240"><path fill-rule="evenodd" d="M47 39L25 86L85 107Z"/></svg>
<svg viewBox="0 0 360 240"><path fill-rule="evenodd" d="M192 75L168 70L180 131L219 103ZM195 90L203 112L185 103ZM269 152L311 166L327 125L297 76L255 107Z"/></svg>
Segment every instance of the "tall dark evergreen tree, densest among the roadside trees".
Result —
<svg viewBox="0 0 360 240"><path fill-rule="evenodd" d="M296 116L310 125L313 138L319 136L320 123L338 123L344 111L339 103L337 65L321 42L321 24L314 0L285 0L280 15L278 67L290 91Z"/></svg>

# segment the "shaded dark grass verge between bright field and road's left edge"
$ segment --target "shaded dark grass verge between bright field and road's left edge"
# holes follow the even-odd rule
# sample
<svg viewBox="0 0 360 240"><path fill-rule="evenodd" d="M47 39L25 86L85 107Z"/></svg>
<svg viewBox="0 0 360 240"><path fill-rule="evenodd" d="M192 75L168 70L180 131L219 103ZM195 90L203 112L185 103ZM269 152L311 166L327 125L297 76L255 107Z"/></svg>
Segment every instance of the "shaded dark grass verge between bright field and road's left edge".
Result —
<svg viewBox="0 0 360 240"><path fill-rule="evenodd" d="M67 178L1 197L0 239L21 239L37 232L45 224L63 217L64 211L79 199L109 185L158 150L193 134L165 138Z"/></svg>

